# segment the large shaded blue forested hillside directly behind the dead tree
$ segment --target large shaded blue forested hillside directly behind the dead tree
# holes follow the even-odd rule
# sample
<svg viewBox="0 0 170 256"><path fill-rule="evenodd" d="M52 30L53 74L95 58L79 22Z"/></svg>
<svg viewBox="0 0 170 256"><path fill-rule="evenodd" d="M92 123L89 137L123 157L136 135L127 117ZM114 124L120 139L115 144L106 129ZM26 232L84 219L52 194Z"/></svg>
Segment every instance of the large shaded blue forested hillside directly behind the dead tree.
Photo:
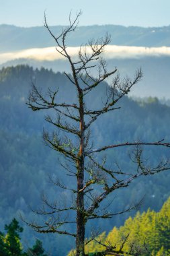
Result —
<svg viewBox="0 0 170 256"><path fill-rule="evenodd" d="M19 65L17 67L7 67L0 71L0 220L1 229L4 224L9 223L17 217L19 211L26 216L26 219L37 220L30 207L35 208L40 205L42 193L46 193L49 198L59 198L63 191L53 187L48 182L48 174L59 179L65 179L64 170L58 164L58 155L42 141L42 130L51 129L44 122L43 113L32 113L26 105L26 99L31 84L40 86L42 90L49 87L59 89L58 100L65 99L65 102L73 102L75 91L69 79L62 73L54 73L47 69L36 69ZM98 98L105 94L107 84L103 83L94 94L88 94L86 103L97 106ZM140 85L142 87L142 83ZM149 96L149 95L148 95ZM44 113L45 114L45 113ZM128 97L121 102L120 110L114 111L112 115L107 115L105 119L99 119L97 125L91 130L93 146L100 146L120 141L159 141L161 139L170 140L170 108L163 105L157 98L150 98L143 102L136 102ZM151 158L153 163L159 162L160 158L169 156L168 150L157 151L157 148L144 148L146 158ZM118 162L121 168L134 168L129 158L130 152L122 150L110 152L108 159L110 165ZM116 195L110 197L114 200L110 206L112 212L122 210L130 203L135 203L144 197L141 212L151 207L153 210L160 210L165 200L169 197L170 172L155 174L154 177L146 177L138 180L138 183ZM71 177L68 177L68 185L74 186ZM69 199L69 193L65 193ZM133 215L134 212L130 212ZM106 232L113 226L120 226L128 214L116 216L106 222L98 221L97 226ZM23 239L30 243L29 247L35 242L31 229L24 226ZM89 228L90 233L90 228ZM39 238L39 236L38 236ZM51 253L55 251L58 256L66 255L73 247L73 241L67 240L62 236L40 236L44 239L44 247ZM60 245L60 247L58 247ZM62 246L63 245L63 246ZM60 249L62 248L63 251Z"/></svg>

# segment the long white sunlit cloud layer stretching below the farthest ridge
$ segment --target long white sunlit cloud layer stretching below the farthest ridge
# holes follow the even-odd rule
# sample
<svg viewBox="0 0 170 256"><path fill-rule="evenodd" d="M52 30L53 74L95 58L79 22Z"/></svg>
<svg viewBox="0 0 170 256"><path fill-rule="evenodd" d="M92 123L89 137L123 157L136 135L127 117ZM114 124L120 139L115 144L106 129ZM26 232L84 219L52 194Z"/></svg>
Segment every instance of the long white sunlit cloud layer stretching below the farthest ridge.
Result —
<svg viewBox="0 0 170 256"><path fill-rule="evenodd" d="M72 57L76 57L79 47L68 47L67 51ZM89 49L87 49L89 51ZM170 56L170 47L139 47L139 46L105 46L103 57L106 59L113 58L140 58L144 56ZM0 53L0 64L13 59L35 59L37 61L54 61L64 59L54 47L26 49L10 53Z"/></svg>

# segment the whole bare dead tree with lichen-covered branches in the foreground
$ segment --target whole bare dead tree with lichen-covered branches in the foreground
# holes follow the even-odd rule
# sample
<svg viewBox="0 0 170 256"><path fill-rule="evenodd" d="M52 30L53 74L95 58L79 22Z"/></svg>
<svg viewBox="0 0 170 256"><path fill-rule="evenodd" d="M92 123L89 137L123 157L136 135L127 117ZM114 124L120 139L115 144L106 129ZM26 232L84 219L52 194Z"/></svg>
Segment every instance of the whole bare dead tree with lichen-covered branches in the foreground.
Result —
<svg viewBox="0 0 170 256"><path fill-rule="evenodd" d="M69 169L69 164L62 164L67 171L77 181L77 187L74 189L68 188L67 185L60 181L53 181L57 186L63 189L69 189L76 197L75 203L60 207L58 202L50 203L44 197L44 204L37 211L38 214L50 215L48 221L44 225L30 223L38 232L56 232L58 234L66 234L75 237L76 240L76 256L85 255L85 225L89 220L98 218L112 218L115 213L108 212L108 210L99 211L101 203L117 189L128 187L134 179L149 174L155 174L163 170L169 169L168 162L159 162L157 166L146 166L142 160L142 146L163 146L170 147L169 142L161 141L125 141L122 143L112 143L110 145L101 146L101 148L93 149L91 146L90 128L97 121L97 119L106 113L112 113L120 106L119 100L130 92L131 88L135 86L142 77L141 70L136 71L134 79L126 77L120 79L117 69L112 71L107 70L105 60L101 57L104 47L110 42L110 36L106 34L103 38L97 40L90 40L85 46L79 48L77 59L69 54L67 49L67 37L73 33L77 28L77 23L81 13L77 13L75 20L69 17L69 26L62 29L58 36L55 36L44 18L44 26L54 38L56 43L56 51L65 57L71 67L71 74L65 75L71 82L72 88L77 92L77 102L60 102L58 96L58 89L52 91L48 89L47 94L43 94L35 84L32 86L32 92L28 98L28 106L32 110L51 110L54 113L46 116L46 121L54 126L57 130L65 133L65 136L60 137L57 131L52 135L44 131L43 137L46 144L53 150L56 150L65 157L65 161L71 162L75 170ZM91 69L97 69L97 75L91 75ZM91 109L87 106L85 97L88 97L89 92L102 84L105 79L113 76L113 82L108 86L108 91L105 94L105 101L102 100L101 108ZM67 92L65 92L67 93ZM75 139L73 138L75 137ZM75 142L76 141L76 142ZM110 150L112 148L127 148L135 146L136 150L133 155L132 161L136 164L137 168L134 172L128 170L120 170L120 168L110 170L107 168L105 160L98 160L97 153ZM112 182L111 182L112 181ZM99 194L93 195L94 186L101 187L98 189ZM86 200L86 198L88 200ZM88 203L87 203L88 201ZM48 207L48 210L47 210ZM134 206L128 210L132 210ZM128 210L125 210L128 211ZM75 220L60 220L60 214L65 212L76 212ZM124 212L124 211L122 211ZM117 213L117 214L121 214ZM56 214L58 218L51 217ZM75 232L69 232L65 228L66 224L75 224ZM124 244L123 244L124 245ZM122 255L123 245L121 249L116 251L116 247L106 247L105 251L97 255ZM128 252L133 255L133 252Z"/></svg>

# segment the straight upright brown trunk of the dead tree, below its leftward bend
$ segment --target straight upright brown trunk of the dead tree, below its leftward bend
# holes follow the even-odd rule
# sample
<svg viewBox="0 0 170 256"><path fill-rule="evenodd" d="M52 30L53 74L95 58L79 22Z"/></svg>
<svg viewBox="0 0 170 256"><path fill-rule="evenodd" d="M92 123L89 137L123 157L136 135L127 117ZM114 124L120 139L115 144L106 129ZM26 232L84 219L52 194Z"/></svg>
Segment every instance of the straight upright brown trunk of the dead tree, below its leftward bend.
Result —
<svg viewBox="0 0 170 256"><path fill-rule="evenodd" d="M80 115L80 148L79 160L77 161L77 236L76 256L85 255L85 216L84 216L84 106L83 92L79 92L79 115Z"/></svg>

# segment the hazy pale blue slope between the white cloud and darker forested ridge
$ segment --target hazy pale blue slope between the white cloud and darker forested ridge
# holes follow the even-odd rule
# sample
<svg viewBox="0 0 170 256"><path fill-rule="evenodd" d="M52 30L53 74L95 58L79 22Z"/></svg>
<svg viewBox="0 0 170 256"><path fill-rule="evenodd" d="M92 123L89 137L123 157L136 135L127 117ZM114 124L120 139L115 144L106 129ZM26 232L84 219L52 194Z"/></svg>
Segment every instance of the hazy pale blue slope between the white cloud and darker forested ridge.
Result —
<svg viewBox="0 0 170 256"><path fill-rule="evenodd" d="M170 98L170 77L169 65L170 57L168 56L155 56L155 57L141 57L138 58L120 58L107 59L108 69L112 70L117 67L120 74L134 75L134 71L141 67L143 72L142 82L130 92L136 96L157 96L159 98ZM65 60L56 61L36 61L34 59L16 59L8 61L0 65L0 67L8 67L9 65L29 64L35 69L46 67L55 72L67 71L70 72L69 65ZM91 70L93 73L93 70ZM95 75L95 74L93 74Z"/></svg>

